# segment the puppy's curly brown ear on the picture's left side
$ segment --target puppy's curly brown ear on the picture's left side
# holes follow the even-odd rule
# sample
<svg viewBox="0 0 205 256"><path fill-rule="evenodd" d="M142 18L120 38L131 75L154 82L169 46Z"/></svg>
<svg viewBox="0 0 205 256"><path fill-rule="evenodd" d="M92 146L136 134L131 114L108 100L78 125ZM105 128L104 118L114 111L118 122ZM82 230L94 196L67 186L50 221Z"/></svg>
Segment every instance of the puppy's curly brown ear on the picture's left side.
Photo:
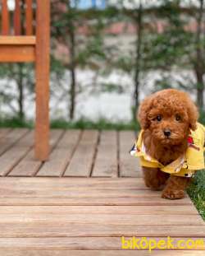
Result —
<svg viewBox="0 0 205 256"><path fill-rule="evenodd" d="M152 99L152 95L148 96L139 105L137 118L141 128L143 129L147 129L150 125L150 121L148 120L148 113L152 107Z"/></svg>

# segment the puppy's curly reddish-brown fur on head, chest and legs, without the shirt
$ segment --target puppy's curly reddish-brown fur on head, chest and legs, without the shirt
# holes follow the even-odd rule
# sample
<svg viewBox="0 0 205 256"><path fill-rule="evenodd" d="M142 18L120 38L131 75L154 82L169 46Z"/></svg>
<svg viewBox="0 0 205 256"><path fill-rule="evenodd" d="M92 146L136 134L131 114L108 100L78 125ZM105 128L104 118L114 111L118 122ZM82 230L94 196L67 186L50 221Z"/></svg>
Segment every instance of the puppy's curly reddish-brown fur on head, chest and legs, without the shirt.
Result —
<svg viewBox="0 0 205 256"><path fill-rule="evenodd" d="M146 151L167 165L186 151L190 129L197 128L198 109L185 92L167 89L150 95L142 102L138 119L144 129ZM185 196L189 179L170 177L153 168L144 167L143 170L145 184L149 188L162 189L162 185L166 184L163 198L178 199Z"/></svg>

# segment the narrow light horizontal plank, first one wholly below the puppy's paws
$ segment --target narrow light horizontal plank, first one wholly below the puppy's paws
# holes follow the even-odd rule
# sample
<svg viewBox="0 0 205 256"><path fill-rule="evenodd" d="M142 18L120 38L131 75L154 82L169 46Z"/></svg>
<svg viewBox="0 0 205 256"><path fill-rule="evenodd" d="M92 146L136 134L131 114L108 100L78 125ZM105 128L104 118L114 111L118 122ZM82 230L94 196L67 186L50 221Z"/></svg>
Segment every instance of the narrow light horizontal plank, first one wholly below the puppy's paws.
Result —
<svg viewBox="0 0 205 256"><path fill-rule="evenodd" d="M184 205L177 207L169 206L2 206L0 208L0 216L7 215L21 215L21 213L26 215L29 214L41 214L41 215L54 215L54 216L66 216L66 214L107 214L107 215L181 215L189 216L198 215L196 208L193 205ZM166 225L166 224L163 224Z"/></svg>

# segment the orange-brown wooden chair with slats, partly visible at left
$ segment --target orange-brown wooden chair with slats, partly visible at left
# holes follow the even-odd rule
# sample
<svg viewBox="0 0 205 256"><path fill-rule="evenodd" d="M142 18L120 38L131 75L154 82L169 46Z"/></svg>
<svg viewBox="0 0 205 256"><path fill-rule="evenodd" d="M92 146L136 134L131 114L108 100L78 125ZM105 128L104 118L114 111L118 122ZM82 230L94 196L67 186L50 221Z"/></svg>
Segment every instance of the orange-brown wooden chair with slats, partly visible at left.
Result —
<svg viewBox="0 0 205 256"><path fill-rule="evenodd" d="M2 7L0 63L35 63L34 151L37 159L46 161L49 153L50 1L15 0L15 10L12 15L7 7L7 0L0 1Z"/></svg>

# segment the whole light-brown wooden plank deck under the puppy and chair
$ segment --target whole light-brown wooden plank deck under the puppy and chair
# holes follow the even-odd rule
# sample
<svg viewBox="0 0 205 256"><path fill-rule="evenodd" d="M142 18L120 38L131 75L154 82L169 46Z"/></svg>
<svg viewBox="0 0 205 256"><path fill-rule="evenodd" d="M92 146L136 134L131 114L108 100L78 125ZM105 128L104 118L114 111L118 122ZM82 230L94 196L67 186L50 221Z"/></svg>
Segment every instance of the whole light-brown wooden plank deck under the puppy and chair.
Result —
<svg viewBox="0 0 205 256"><path fill-rule="evenodd" d="M122 250L121 236L205 238L188 197L145 186L129 155L134 133L52 130L50 161L34 161L34 132L0 130L0 255L150 255ZM152 255L204 255L204 248Z"/></svg>

